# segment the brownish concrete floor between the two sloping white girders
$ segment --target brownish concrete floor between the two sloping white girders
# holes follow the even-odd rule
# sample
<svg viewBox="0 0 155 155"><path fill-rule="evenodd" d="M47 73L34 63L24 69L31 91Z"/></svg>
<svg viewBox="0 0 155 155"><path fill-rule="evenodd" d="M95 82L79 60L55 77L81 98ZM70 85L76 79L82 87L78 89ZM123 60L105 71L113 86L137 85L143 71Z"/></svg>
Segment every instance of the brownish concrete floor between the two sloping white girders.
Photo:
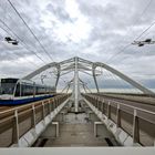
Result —
<svg viewBox="0 0 155 155"><path fill-rule="evenodd" d="M60 116L58 116L55 121L60 121ZM60 136L58 138L53 138L54 130L51 124L40 136L40 141L35 144L35 146L76 147L117 145L113 135L104 125L99 125L97 137L94 136L93 123L95 121L99 121L99 118L94 114L92 114L91 120L87 120L87 115L85 113L68 113L64 115L63 121L60 122Z"/></svg>

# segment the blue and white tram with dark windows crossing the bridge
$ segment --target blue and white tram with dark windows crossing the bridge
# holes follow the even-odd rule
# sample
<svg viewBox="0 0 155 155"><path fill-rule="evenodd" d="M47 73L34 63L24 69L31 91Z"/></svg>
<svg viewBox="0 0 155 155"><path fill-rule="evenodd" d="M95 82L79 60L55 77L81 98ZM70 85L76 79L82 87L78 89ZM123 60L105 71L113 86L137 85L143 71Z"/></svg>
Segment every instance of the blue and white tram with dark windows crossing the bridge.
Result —
<svg viewBox="0 0 155 155"><path fill-rule="evenodd" d="M1 79L0 84L0 105L20 105L55 94L55 87L20 79Z"/></svg>

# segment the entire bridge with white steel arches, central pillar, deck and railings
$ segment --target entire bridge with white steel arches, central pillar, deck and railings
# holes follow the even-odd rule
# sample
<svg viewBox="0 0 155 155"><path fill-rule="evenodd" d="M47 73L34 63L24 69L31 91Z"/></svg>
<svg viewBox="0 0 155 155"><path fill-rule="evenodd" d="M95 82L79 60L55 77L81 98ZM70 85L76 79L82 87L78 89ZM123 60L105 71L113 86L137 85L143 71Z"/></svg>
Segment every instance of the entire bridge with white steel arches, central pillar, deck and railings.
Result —
<svg viewBox="0 0 155 155"><path fill-rule="evenodd" d="M45 64L21 80L31 81L49 69L55 71L55 87L64 75L73 76L54 97L0 106L0 147L155 146L152 90L105 63L78 56ZM97 78L103 70L138 93L102 92ZM91 76L95 92L80 73Z"/></svg>

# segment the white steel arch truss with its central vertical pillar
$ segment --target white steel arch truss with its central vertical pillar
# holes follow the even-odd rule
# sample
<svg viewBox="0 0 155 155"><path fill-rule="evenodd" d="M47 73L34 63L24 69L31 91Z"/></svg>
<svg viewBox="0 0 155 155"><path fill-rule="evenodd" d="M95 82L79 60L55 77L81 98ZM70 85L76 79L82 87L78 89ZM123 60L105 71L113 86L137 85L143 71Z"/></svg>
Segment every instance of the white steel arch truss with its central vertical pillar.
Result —
<svg viewBox="0 0 155 155"><path fill-rule="evenodd" d="M143 86L142 84L140 84L135 80L123 74L122 72L115 70L114 68L112 68L105 63L102 63L102 62L91 62L91 61L87 61L87 60L84 60L81 58L72 58L69 60L61 61L61 62L52 62L52 63L45 64L45 65L41 66L40 69L33 71L32 73L25 75L23 78L23 80L31 80L32 78L37 76L41 72L43 72L48 69L51 69L51 68L56 69L55 87L58 86L59 79L61 76L63 76L64 74L68 74L70 72L74 72L74 78L71 82L74 85L72 96L73 96L74 102L75 102L75 104L74 104L75 111L78 111L78 106L79 106L80 83L82 83L81 80L79 79L79 72L83 72L85 74L92 75L94 83L95 83L96 91L100 92L96 76L101 73L101 71L99 71L97 68L103 68L103 69L110 71L111 73L117 75L118 78L126 81L127 83L130 83L131 85L133 85L134 87L136 87L137 90L143 92L144 94L154 94L154 92L152 92L147 87ZM83 83L83 85L84 85L84 83Z"/></svg>

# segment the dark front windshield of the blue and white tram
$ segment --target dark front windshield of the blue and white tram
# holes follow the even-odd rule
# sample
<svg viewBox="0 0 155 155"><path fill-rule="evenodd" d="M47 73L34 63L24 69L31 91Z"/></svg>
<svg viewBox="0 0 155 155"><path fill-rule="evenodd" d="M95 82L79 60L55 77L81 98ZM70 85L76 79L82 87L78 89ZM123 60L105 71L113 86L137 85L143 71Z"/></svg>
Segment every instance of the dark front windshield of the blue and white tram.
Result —
<svg viewBox="0 0 155 155"><path fill-rule="evenodd" d="M1 94L13 94L16 84L17 84L17 79L2 79L1 80Z"/></svg>

